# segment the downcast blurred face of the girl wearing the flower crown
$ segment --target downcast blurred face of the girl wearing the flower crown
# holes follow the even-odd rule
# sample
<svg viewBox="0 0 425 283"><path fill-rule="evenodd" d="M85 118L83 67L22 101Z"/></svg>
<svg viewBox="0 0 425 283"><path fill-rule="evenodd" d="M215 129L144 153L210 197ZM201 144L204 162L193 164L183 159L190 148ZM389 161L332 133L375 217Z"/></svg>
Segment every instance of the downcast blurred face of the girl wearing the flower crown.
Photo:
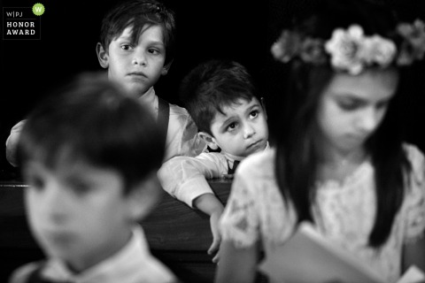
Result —
<svg viewBox="0 0 425 283"><path fill-rule="evenodd" d="M397 87L394 69L336 73L319 101L317 121L323 143L344 153L363 147L383 121Z"/></svg>

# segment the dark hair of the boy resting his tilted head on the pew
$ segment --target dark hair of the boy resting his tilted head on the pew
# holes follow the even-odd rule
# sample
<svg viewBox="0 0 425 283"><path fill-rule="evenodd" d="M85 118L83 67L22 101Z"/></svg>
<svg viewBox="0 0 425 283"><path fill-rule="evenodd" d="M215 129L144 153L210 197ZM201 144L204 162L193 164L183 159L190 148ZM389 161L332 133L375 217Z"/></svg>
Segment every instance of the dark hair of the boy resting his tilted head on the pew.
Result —
<svg viewBox="0 0 425 283"><path fill-rule="evenodd" d="M251 101L257 90L243 65L211 59L197 65L182 80L180 96L200 131L212 134L211 123L222 107L239 99ZM213 135L213 134L212 134Z"/></svg>

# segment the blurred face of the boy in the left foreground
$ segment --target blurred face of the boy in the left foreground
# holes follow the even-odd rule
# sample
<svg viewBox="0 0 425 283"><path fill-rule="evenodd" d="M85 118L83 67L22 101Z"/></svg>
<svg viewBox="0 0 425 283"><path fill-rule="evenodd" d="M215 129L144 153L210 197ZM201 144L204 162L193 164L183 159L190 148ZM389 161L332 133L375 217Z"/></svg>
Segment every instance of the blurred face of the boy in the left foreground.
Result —
<svg viewBox="0 0 425 283"><path fill-rule="evenodd" d="M28 222L49 256L82 271L128 241L131 205L118 172L83 163L51 171L32 162L24 177Z"/></svg>

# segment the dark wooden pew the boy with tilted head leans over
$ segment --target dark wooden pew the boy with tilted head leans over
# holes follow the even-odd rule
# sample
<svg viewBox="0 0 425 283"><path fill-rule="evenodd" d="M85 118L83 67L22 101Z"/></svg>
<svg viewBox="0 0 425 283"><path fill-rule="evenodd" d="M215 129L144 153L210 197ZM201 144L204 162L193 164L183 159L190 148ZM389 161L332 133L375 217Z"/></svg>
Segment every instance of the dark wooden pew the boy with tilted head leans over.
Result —
<svg viewBox="0 0 425 283"><path fill-rule="evenodd" d="M225 204L231 181L209 183ZM17 266L43 257L27 226L22 198L25 187L20 181L0 183L0 282L6 282ZM142 225L152 253L184 282L213 282L216 264L206 253L213 236L205 214L164 193Z"/></svg>

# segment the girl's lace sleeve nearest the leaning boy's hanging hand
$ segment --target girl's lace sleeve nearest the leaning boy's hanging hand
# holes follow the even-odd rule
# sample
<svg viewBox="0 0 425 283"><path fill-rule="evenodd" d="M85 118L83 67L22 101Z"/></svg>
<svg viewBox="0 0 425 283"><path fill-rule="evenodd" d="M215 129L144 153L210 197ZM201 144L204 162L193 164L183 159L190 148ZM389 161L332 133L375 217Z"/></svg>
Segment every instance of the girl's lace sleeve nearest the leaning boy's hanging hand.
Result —
<svg viewBox="0 0 425 283"><path fill-rule="evenodd" d="M233 241L237 248L249 247L259 238L255 195L251 182L245 180L242 173L236 173L228 203L220 218L222 239Z"/></svg>

